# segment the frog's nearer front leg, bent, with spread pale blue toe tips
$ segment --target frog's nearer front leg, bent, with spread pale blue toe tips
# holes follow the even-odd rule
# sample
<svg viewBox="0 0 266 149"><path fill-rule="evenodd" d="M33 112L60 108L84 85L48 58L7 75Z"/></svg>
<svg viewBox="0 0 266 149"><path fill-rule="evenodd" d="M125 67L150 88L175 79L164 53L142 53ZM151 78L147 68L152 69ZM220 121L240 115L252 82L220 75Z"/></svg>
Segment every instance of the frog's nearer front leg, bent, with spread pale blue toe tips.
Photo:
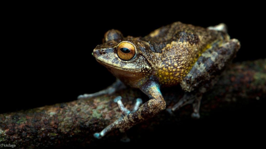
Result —
<svg viewBox="0 0 266 149"><path fill-rule="evenodd" d="M107 126L100 133L95 133L95 138L102 138L108 132L117 128L119 128L120 132L125 132L132 126L155 116L157 113L165 109L165 101L159 89L159 85L156 82L147 82L140 88L140 90L148 95L150 100L141 105L139 108L138 104L140 103L137 101L136 106L134 107L134 110L136 111L129 112L127 109L124 109L122 102L119 102L119 99L121 98L118 97L115 101L118 102L119 108L124 116Z"/></svg>

